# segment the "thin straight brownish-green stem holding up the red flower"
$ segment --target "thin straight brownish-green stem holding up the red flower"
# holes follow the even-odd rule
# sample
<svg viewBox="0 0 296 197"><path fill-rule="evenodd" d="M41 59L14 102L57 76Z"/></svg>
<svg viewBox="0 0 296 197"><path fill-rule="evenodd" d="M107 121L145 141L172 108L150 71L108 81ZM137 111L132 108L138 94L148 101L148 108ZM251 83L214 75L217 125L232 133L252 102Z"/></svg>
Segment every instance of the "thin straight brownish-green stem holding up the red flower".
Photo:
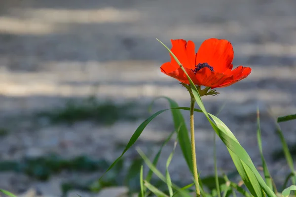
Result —
<svg viewBox="0 0 296 197"><path fill-rule="evenodd" d="M200 197L196 154L195 154L195 138L194 138L194 104L195 99L191 97L190 101L190 134L191 134L191 152L192 152L192 164L193 164L193 176L196 189L196 197Z"/></svg>

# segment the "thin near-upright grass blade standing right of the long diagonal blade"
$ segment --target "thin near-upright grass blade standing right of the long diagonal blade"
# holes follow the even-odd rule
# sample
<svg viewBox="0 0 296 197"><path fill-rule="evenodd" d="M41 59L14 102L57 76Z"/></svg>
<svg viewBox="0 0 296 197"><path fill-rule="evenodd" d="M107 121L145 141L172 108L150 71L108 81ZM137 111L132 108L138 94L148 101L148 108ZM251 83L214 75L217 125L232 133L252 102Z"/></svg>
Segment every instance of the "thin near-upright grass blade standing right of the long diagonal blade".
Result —
<svg viewBox="0 0 296 197"><path fill-rule="evenodd" d="M265 176L265 181L267 186L272 190L273 189L272 180L271 180L271 176L270 176L267 164L265 162L265 159L263 156L263 150L262 150L259 108L257 108L257 141L258 141L259 152L262 160L262 167L263 167L263 173Z"/></svg>

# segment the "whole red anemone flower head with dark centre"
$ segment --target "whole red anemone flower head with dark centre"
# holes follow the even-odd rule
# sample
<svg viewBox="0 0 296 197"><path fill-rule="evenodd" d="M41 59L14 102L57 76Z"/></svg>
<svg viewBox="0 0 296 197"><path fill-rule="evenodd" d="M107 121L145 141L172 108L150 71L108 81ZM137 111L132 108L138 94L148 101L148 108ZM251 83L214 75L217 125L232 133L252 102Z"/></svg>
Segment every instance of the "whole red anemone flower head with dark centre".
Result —
<svg viewBox="0 0 296 197"><path fill-rule="evenodd" d="M222 88L230 86L251 73L250 67L238 66L232 70L233 48L229 41L217 38L205 40L195 54L192 41L171 40L171 51L185 68L193 83L198 86ZM189 84L185 72L171 56L171 62L160 67L161 72Z"/></svg>

